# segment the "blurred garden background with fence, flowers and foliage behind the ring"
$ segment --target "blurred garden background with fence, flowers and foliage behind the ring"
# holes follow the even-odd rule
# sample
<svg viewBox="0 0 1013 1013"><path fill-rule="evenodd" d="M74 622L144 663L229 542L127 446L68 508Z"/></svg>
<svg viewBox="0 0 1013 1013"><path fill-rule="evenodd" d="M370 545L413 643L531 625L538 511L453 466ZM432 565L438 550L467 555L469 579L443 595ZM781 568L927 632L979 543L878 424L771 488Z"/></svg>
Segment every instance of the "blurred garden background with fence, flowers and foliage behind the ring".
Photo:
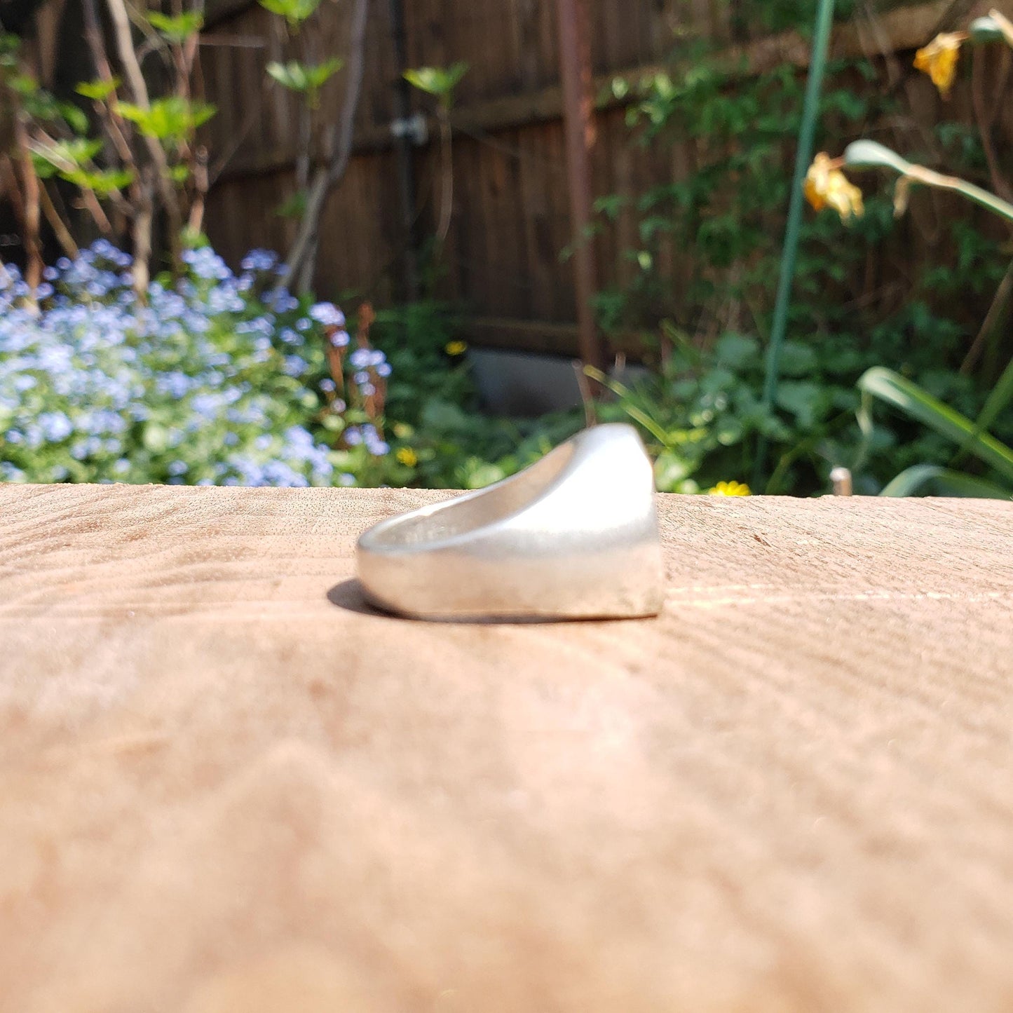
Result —
<svg viewBox="0 0 1013 1013"><path fill-rule="evenodd" d="M147 4L0 0L0 480L1010 496L1010 0Z"/></svg>

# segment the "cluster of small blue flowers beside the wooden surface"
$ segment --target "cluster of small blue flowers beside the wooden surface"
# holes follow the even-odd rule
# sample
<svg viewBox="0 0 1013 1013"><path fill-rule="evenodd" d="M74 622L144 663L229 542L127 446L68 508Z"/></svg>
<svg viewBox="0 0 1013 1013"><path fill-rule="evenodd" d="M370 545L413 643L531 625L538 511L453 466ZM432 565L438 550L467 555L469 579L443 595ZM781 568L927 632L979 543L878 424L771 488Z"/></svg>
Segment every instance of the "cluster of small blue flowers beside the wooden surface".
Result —
<svg viewBox="0 0 1013 1013"><path fill-rule="evenodd" d="M0 480L354 484L357 455L389 453L328 396L324 342L348 341L340 310L279 291L266 250L238 276L209 247L184 261L143 299L131 257L104 240L34 292L0 266ZM348 360L360 390L389 373L374 349Z"/></svg>

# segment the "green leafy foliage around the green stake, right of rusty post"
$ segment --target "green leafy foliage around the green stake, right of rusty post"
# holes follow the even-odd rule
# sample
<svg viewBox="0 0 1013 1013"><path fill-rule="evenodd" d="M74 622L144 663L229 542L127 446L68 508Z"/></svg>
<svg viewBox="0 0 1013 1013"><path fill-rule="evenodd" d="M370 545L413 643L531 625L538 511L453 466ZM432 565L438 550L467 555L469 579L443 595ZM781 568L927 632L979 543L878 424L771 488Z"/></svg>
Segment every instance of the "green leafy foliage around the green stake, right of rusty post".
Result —
<svg viewBox="0 0 1013 1013"><path fill-rule="evenodd" d="M811 20L811 5L797 0L739 7L754 29ZM833 150L833 139L899 114L876 80L866 61L831 65L817 144ZM665 70L613 83L613 92L629 102L627 122L637 143L669 159L676 145L680 160L692 166L671 182L597 205L599 229L622 221L624 232L636 236L622 253L628 278L621 288L599 293L597 309L607 333L637 333L648 348L650 375L617 392L618 410L637 421L664 461L660 487L748 478L760 435L775 454L771 492L826 491L834 465L851 468L856 491L866 493L917 465L951 468L953 448L937 432L901 415L873 424L868 406L863 410L855 382L881 363L971 418L986 402L982 381L956 368L978 330L972 307L992 298L1008 254L978 221L954 220L943 224L935 257L911 264L892 194L874 192L866 197L864 217L847 229L832 210L806 216L784 383L768 417L756 410L758 349L770 328L802 90L803 76L793 67L745 76L693 38L681 41ZM939 137L955 164L971 173L973 166L984 168L973 132L944 123ZM910 166L887 149L859 147L851 154L874 156L891 171ZM753 352L732 362L732 347ZM708 400L715 390L723 397ZM713 417L703 422L707 411ZM995 403L991 414L1000 427L1013 421ZM944 478L934 474L932 487L941 489Z"/></svg>

